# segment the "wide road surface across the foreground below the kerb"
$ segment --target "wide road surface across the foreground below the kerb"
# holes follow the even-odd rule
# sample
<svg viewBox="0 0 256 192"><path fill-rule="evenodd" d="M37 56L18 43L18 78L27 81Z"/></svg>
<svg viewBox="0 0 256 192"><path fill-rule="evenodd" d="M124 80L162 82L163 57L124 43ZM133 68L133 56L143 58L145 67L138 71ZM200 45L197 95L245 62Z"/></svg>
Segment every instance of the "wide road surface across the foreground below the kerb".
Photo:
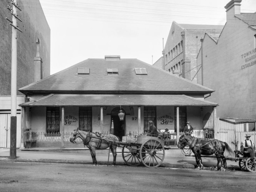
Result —
<svg viewBox="0 0 256 192"><path fill-rule="evenodd" d="M1 192L254 191L244 171L0 162Z"/></svg>

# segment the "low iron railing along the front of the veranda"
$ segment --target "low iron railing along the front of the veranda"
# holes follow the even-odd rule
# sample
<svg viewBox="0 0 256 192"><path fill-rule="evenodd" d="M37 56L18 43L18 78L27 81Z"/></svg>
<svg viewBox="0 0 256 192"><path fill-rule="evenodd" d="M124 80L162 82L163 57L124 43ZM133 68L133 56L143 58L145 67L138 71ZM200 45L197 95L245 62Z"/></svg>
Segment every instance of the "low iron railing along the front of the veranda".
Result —
<svg viewBox="0 0 256 192"><path fill-rule="evenodd" d="M64 146L61 141L61 133L43 133L43 132L27 132L24 134L24 147L25 148L84 148L81 139L76 139L76 142L80 144L73 144L69 141L71 132L64 133ZM103 134L109 134L105 132ZM138 135L137 132L130 132L131 135ZM187 134L202 139L214 139L214 132L194 131L193 133L180 132L180 135ZM169 132L168 134L159 133L165 140L165 146L175 147L177 146L177 133Z"/></svg>

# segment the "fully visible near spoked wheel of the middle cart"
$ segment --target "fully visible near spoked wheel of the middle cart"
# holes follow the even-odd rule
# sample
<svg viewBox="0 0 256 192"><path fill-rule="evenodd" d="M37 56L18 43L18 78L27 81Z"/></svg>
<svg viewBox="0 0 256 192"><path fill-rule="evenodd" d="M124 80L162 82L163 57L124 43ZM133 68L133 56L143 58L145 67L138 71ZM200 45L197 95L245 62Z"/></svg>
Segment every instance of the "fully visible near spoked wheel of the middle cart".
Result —
<svg viewBox="0 0 256 192"><path fill-rule="evenodd" d="M159 141L147 139L140 147L140 159L148 168L158 167L165 159L165 149Z"/></svg>

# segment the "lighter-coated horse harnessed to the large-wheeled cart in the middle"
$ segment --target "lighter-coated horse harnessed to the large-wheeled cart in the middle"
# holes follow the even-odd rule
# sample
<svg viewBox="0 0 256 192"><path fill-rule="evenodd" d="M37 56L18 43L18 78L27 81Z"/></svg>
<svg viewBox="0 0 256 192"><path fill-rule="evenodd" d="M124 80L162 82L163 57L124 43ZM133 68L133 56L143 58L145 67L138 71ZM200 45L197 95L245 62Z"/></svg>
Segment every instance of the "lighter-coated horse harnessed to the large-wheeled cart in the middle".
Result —
<svg viewBox="0 0 256 192"><path fill-rule="evenodd" d="M93 165L98 165L96 160L95 149L106 149L110 147L110 150L113 154L113 163L112 165L116 165L116 147L117 144L114 141L119 141L119 138L115 135L101 135L100 137L96 135L96 133L85 132L78 129L75 129L70 136L69 140L72 143L76 143L75 139L81 138L84 145L86 145L91 153L91 157L93 159Z"/></svg>

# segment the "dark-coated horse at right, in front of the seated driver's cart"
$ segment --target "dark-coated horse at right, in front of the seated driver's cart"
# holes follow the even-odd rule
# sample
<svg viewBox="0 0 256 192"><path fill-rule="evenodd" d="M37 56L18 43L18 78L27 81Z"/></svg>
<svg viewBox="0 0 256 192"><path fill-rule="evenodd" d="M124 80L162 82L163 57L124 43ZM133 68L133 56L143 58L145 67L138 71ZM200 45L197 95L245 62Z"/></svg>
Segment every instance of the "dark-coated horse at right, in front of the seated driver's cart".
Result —
<svg viewBox="0 0 256 192"><path fill-rule="evenodd" d="M213 140L203 140L200 138L195 138L193 136L180 136L178 142L178 148L183 149L186 145L189 145L189 148L195 154L195 160L197 162L197 169L203 169L201 155L210 156L215 154L217 158L217 166L215 170L218 170L219 162L221 162L221 171L227 168L226 157L223 155L225 149L229 153L232 153L232 149L226 142L219 141L217 139Z"/></svg>

